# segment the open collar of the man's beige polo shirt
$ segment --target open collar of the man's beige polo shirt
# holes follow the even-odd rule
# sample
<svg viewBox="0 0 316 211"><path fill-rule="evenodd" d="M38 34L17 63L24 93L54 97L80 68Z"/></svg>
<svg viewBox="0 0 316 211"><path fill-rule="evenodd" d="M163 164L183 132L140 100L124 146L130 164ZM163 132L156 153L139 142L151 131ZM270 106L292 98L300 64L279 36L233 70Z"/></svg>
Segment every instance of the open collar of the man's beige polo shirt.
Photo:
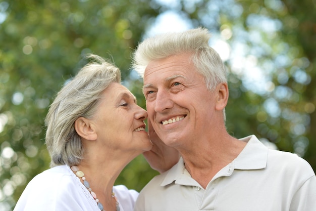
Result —
<svg viewBox="0 0 316 211"><path fill-rule="evenodd" d="M265 168L267 166L268 148L254 135L247 136L239 140L244 141L247 144L233 162L228 164L228 166L238 170L259 170ZM169 171L165 172L164 175L165 179L161 183L161 186L166 186L174 181L176 184L194 185L194 183L196 183L196 185L198 185L198 183L191 178L190 174L186 170L182 157L180 157L178 163Z"/></svg>

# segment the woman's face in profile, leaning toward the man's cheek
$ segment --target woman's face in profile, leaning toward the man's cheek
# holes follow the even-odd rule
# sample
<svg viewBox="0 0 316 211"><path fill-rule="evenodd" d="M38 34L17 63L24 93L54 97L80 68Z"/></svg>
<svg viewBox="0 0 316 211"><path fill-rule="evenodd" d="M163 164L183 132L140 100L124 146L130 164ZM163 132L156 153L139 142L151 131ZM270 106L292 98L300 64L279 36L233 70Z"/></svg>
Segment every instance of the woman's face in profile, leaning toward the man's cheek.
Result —
<svg viewBox="0 0 316 211"><path fill-rule="evenodd" d="M92 122L97 141L107 149L142 153L151 149L144 120L147 112L135 96L120 83L113 82L103 91Z"/></svg>

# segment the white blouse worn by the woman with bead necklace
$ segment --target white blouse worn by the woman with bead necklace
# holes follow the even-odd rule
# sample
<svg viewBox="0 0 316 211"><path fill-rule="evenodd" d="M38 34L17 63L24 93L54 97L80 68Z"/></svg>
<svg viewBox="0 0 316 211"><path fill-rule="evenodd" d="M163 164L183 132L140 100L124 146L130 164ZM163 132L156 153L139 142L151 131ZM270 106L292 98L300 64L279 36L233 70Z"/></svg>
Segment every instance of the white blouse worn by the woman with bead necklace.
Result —
<svg viewBox="0 0 316 211"><path fill-rule="evenodd" d="M124 185L113 187L121 211L132 211L138 192ZM26 186L14 211L100 211L92 195L67 165L35 176Z"/></svg>

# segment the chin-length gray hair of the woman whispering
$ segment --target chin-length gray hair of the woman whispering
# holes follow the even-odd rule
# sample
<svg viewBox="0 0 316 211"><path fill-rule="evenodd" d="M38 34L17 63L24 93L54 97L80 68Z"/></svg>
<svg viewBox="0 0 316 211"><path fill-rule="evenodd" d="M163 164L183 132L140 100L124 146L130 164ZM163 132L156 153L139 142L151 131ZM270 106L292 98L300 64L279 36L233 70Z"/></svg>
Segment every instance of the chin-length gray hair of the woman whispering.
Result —
<svg viewBox="0 0 316 211"><path fill-rule="evenodd" d="M45 118L45 143L50 166L74 165L83 158L83 145L74 128L78 117L95 115L101 93L112 82L121 82L120 69L96 55L57 94Z"/></svg>

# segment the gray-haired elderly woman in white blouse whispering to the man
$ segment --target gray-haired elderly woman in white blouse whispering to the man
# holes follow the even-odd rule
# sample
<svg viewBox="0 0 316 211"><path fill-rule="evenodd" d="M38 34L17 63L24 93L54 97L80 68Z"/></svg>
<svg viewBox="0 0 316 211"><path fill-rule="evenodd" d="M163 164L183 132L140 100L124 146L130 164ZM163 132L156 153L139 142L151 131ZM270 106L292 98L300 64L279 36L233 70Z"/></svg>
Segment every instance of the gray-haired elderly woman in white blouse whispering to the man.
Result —
<svg viewBox="0 0 316 211"><path fill-rule="evenodd" d="M96 55L88 58L94 62L62 88L45 118L51 168L31 180L14 211L133 210L138 192L114 183L152 147L147 112L120 84L117 67ZM168 162L168 168L176 163Z"/></svg>

